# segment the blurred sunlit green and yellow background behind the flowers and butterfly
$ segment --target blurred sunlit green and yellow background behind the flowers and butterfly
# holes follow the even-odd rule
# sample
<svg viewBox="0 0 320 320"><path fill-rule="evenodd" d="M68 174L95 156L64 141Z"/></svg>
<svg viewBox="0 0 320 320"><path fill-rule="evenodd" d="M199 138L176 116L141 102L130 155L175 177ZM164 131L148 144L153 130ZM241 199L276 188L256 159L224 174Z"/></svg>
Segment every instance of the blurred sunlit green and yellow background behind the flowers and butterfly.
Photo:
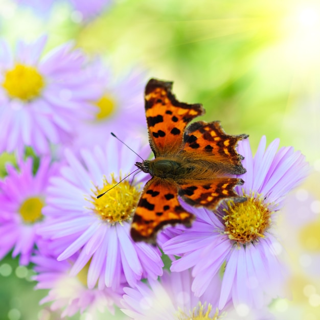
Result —
<svg viewBox="0 0 320 320"><path fill-rule="evenodd" d="M73 39L89 55L105 57L116 73L139 66L149 77L174 81L179 100L202 103L207 111L202 119L220 120L227 133L249 134L254 151L262 135L268 143L280 138L281 146L301 150L312 173L300 189L313 199L315 216L320 212L318 1L121 0L85 25L74 20L72 9L63 4L43 19L0 0L1 35L12 44L47 33L49 50ZM306 210L310 203L304 204ZM289 220L295 219L294 212L289 214ZM290 233L286 219L280 231ZM320 222L315 219L312 250L300 230L293 234L302 239L298 246L288 245L293 293L292 300L271 305L279 319L320 318L319 277L310 277L299 265L310 250L320 257ZM284 245L291 241L286 232L280 236ZM8 265L11 272L1 272ZM34 283L27 280L31 271L18 277L17 266L10 257L0 262L0 320L40 319L38 301L44 292L33 291ZM315 290L311 302L308 285ZM43 317L49 318L59 317Z"/></svg>

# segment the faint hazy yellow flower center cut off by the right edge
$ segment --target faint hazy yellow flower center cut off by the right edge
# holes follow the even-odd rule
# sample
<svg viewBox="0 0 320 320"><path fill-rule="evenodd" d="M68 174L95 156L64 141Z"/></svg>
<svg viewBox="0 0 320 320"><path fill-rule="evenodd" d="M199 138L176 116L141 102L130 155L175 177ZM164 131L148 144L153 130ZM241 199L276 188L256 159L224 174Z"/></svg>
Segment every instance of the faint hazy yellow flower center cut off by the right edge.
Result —
<svg viewBox="0 0 320 320"><path fill-rule="evenodd" d="M320 221L303 226L300 230L299 239L304 249L311 252L320 252Z"/></svg>

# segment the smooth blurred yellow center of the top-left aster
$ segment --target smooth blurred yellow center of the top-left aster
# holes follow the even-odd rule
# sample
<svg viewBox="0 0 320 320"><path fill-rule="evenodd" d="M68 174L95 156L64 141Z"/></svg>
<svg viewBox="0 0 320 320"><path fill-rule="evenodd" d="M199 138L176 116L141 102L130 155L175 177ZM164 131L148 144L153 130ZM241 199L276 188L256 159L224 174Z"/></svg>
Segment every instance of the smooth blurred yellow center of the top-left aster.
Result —
<svg viewBox="0 0 320 320"><path fill-rule="evenodd" d="M16 64L12 70L5 74L2 86L11 98L30 101L40 96L44 80L35 67Z"/></svg>

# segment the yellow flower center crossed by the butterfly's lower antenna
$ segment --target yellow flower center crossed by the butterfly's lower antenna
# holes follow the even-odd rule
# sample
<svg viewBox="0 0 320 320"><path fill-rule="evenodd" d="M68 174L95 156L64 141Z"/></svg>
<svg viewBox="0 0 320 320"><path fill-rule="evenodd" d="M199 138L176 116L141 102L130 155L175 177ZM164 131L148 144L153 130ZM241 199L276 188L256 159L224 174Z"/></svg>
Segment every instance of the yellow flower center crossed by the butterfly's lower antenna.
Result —
<svg viewBox="0 0 320 320"><path fill-rule="evenodd" d="M94 211L100 215L101 219L111 224L129 221L140 197L140 188L131 186L128 180L124 180L118 186L112 188L117 183L118 181L113 175L111 175L111 182L108 182L104 177L103 188L96 187L94 196L91 196L91 200L89 200L94 204ZM110 188L112 189L109 190ZM105 191L107 193L97 199L96 196Z"/></svg>

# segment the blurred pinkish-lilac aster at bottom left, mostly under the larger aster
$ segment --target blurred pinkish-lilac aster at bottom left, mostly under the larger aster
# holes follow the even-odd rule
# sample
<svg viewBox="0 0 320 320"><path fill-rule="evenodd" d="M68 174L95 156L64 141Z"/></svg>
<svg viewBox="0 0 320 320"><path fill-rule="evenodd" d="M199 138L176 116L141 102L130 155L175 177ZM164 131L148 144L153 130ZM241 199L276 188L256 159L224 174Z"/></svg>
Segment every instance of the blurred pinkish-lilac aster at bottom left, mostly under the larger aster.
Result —
<svg viewBox="0 0 320 320"><path fill-rule="evenodd" d="M118 291L104 287L88 289L86 273L88 264L77 276L69 274L76 257L68 260L57 261L56 257L37 253L31 258L35 264L34 270L38 273L33 277L38 283L36 289L49 289L48 295L40 301L40 304L51 302L52 311L62 311L61 317L72 316L76 312L86 312L96 319L98 314L104 312L109 317L115 313L115 305L120 304L123 289ZM111 313L111 314L110 314Z"/></svg>

